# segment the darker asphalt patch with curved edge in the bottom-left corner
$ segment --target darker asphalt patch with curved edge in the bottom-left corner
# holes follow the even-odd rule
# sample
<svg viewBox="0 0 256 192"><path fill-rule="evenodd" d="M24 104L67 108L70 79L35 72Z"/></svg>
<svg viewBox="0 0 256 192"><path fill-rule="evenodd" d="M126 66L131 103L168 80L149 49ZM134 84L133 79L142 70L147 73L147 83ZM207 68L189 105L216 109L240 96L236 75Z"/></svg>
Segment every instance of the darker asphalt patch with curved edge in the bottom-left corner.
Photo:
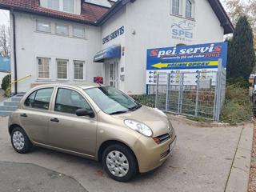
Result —
<svg viewBox="0 0 256 192"><path fill-rule="evenodd" d="M74 178L19 162L0 162L2 192L86 192Z"/></svg>

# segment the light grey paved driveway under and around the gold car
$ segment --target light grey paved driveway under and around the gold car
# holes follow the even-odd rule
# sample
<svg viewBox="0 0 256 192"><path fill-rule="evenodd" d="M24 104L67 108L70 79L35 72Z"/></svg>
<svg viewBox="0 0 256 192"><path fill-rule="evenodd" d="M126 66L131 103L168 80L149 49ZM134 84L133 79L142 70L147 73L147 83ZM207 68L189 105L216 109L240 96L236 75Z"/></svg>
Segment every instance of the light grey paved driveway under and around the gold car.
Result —
<svg viewBox="0 0 256 192"><path fill-rule="evenodd" d="M23 175L26 175L26 170L30 170L29 173L36 173L37 166L41 166L70 176L70 179L74 178L88 191L224 191L242 132L242 126L198 128L174 121L178 141L172 156L157 170L138 175L131 182L122 183L108 178L98 162L85 158L38 147L30 154L15 153L7 133L7 121L8 118L0 118L0 170L2 166L6 167L7 162L29 163L26 166L30 166L31 163L34 168L22 169ZM13 169L19 171L18 166L13 166ZM0 171L0 186L5 175L4 171ZM10 179L18 180L15 175ZM21 177L20 182L7 182L7 185L11 183L8 189L35 190L22 190L22 181ZM54 184L54 191L63 191L62 188L58 188L62 183L62 179L58 178ZM78 183L70 182L70 185L77 186Z"/></svg>

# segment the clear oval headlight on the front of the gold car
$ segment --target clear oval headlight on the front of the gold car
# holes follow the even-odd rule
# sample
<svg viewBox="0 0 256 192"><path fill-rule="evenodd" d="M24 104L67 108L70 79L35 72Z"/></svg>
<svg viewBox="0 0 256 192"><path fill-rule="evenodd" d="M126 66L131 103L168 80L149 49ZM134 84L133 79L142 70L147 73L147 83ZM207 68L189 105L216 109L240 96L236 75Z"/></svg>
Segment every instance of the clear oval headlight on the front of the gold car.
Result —
<svg viewBox="0 0 256 192"><path fill-rule="evenodd" d="M147 137L151 137L153 132L150 127L146 126L142 122L136 122L134 120L126 119L125 121L126 126L130 127L130 129L138 131L140 134L144 134Z"/></svg>

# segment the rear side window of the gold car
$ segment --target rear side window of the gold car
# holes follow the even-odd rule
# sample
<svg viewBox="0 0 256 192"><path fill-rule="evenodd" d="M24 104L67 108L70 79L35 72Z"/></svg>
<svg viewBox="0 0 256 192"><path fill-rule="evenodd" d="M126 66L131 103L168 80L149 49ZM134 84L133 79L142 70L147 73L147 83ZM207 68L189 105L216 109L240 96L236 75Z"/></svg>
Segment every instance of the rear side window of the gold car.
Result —
<svg viewBox="0 0 256 192"><path fill-rule="evenodd" d="M40 110L48 110L50 106L50 98L54 88L45 88L36 90L26 98L24 104L31 108Z"/></svg>

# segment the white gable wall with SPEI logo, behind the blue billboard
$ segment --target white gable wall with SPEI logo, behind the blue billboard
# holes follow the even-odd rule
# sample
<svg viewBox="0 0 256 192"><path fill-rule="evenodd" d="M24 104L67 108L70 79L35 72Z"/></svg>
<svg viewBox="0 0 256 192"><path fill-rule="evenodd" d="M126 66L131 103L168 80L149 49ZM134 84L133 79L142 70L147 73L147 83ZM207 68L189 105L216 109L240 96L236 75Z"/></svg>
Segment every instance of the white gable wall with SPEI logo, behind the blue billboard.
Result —
<svg viewBox="0 0 256 192"><path fill-rule="evenodd" d="M184 18L170 15L170 0L140 0L126 6L126 93L146 93L146 50L176 46L178 43L199 44L222 42L223 28L206 0L195 1L194 38L191 42L175 40L171 25ZM132 34L135 30L136 34Z"/></svg>

